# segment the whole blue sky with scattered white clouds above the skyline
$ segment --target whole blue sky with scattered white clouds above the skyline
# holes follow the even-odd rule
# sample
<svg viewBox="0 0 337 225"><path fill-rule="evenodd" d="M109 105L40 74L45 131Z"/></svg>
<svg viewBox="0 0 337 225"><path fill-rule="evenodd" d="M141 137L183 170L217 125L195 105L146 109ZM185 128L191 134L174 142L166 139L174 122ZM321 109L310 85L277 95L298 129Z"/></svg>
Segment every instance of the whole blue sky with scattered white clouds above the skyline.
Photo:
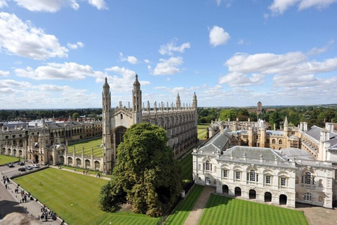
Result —
<svg viewBox="0 0 337 225"><path fill-rule="evenodd" d="M336 103L337 0L0 0L0 109Z"/></svg>

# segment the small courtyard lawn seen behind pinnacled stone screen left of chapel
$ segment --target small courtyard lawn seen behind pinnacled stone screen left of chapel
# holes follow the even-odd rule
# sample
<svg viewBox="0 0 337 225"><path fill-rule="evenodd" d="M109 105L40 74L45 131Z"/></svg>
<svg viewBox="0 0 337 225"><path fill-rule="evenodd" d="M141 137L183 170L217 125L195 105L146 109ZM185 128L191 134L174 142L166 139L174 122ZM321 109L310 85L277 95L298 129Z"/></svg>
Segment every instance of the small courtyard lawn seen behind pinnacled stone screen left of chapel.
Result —
<svg viewBox="0 0 337 225"><path fill-rule="evenodd" d="M81 141L73 143L68 146L69 153L74 153L74 147L77 154L82 154L84 147L84 155L91 155L91 148L93 148L93 155L96 157L103 157L102 139L95 139L91 141Z"/></svg>

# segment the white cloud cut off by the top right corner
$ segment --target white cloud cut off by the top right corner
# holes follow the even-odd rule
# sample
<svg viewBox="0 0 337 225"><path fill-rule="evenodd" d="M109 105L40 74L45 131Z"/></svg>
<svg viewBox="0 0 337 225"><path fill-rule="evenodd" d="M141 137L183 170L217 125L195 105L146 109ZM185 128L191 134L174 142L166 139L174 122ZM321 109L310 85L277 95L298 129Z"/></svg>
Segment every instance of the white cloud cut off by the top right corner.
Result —
<svg viewBox="0 0 337 225"><path fill-rule="evenodd" d="M298 11L315 7L319 10L329 7L337 0L274 0L268 7L272 11L272 15L282 15L286 10L292 6L297 6Z"/></svg>

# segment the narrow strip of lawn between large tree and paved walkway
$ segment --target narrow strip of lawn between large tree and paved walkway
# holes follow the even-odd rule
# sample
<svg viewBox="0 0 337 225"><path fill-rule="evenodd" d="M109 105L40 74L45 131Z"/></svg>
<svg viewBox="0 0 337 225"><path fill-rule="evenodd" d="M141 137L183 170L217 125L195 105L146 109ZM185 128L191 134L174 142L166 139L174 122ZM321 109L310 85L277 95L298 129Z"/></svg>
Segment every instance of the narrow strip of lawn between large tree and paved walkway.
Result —
<svg viewBox="0 0 337 225"><path fill-rule="evenodd" d="M201 192L204 190L204 186L195 185L193 190L187 197L182 200L174 209L169 219L166 220L167 225L184 224L186 218L193 209L195 203L197 203Z"/></svg>

